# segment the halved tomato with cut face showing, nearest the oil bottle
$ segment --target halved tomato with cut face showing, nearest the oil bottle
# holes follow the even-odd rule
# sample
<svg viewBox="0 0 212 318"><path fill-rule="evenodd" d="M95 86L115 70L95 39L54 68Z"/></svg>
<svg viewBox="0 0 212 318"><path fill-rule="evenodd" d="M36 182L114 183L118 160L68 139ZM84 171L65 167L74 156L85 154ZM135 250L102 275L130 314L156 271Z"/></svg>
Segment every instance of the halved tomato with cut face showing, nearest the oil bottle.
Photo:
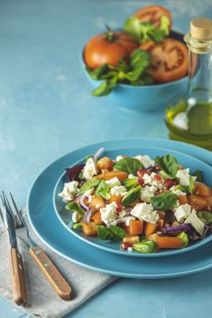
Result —
<svg viewBox="0 0 212 318"><path fill-rule="evenodd" d="M188 52L182 42L167 37L158 44L148 41L139 47L151 54L147 72L157 83L176 81L187 75Z"/></svg>

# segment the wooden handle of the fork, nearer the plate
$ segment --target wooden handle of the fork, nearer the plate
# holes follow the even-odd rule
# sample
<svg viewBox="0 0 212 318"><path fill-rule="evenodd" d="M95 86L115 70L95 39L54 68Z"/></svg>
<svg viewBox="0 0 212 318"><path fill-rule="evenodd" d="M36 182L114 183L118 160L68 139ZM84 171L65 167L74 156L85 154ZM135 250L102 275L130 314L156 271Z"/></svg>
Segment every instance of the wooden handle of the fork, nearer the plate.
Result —
<svg viewBox="0 0 212 318"><path fill-rule="evenodd" d="M34 258L41 272L47 281L52 285L56 293L64 300L70 300L72 289L63 275L57 270L56 266L46 255L42 248L36 246L29 249L29 253Z"/></svg>

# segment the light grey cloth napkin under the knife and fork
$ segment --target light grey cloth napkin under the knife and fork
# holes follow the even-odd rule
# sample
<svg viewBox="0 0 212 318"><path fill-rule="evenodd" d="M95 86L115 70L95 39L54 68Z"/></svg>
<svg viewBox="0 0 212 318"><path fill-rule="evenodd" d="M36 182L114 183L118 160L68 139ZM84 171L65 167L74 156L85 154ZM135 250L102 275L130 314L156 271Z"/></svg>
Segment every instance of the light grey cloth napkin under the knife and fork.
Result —
<svg viewBox="0 0 212 318"><path fill-rule="evenodd" d="M67 282L71 284L73 289L70 301L60 299L51 285L45 280L43 273L38 270L34 260L28 253L26 244L23 240L17 238L19 252L22 254L25 263L26 285L30 297L30 307L18 307L25 313L32 313L38 317L45 318L63 317L66 313L70 313L86 302L88 298L102 290L108 283L116 280L115 276L110 276L106 273L96 273L57 255L37 238L29 225L27 217L25 217L25 221L29 227L32 239L45 250L45 253L56 264L58 270L66 277ZM27 242L23 229L19 229L17 235L24 238L25 242ZM0 242L0 295L13 303L8 261L10 245L8 234L4 230L0 233Z"/></svg>

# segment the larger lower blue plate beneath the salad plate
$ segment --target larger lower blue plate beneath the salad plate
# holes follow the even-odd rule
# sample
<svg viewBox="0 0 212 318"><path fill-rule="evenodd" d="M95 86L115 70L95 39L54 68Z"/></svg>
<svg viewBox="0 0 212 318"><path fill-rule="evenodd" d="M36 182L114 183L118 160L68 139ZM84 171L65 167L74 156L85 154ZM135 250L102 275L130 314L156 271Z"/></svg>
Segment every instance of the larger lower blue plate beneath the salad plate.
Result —
<svg viewBox="0 0 212 318"><path fill-rule="evenodd" d="M66 154L50 164L35 180L27 199L27 211L29 220L35 233L52 250L64 256L66 259L86 266L87 268L111 273L116 276L132 278L165 278L177 277L191 273L197 273L212 267L212 243L207 243L186 256L173 255L164 258L131 258L123 255L108 253L101 249L78 240L70 234L59 221L54 210L52 194L54 186L60 174L67 165L74 164L86 154L92 154L99 146L104 146L108 151L127 147L139 146L164 146L173 150L180 150L187 154L212 164L212 154L207 150L193 145L172 142L160 139L123 140L105 142L86 146L71 154Z"/></svg>

